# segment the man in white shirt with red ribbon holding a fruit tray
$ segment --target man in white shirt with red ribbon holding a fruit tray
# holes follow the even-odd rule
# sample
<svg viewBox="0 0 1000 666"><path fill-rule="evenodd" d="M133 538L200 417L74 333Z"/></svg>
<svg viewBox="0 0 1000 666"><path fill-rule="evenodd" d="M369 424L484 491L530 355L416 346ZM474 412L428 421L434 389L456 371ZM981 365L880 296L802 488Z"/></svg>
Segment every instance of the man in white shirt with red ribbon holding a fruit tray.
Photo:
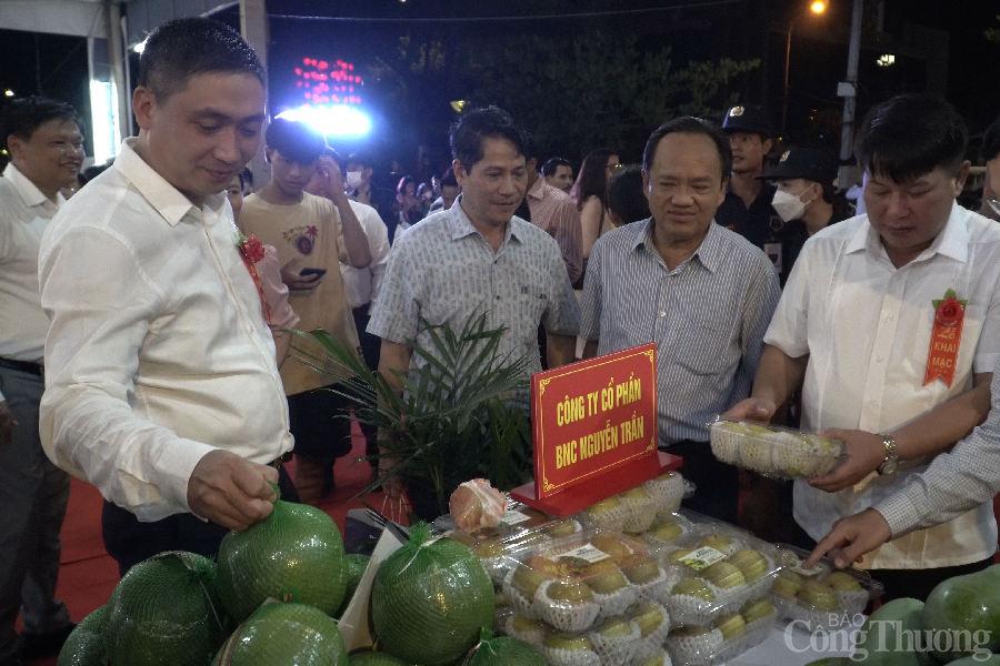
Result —
<svg viewBox="0 0 1000 666"><path fill-rule="evenodd" d="M897 519L892 498L990 408L1000 226L954 201L969 174L967 141L961 117L931 97L894 98L866 119L856 153L868 214L806 243L764 335L751 397L729 413L768 421L801 386L802 427L846 443L849 456L832 474L796 482L801 545L870 507L886 509L882 533L912 527ZM924 599L997 552L988 501L902 532L861 562L886 585L886 601Z"/></svg>

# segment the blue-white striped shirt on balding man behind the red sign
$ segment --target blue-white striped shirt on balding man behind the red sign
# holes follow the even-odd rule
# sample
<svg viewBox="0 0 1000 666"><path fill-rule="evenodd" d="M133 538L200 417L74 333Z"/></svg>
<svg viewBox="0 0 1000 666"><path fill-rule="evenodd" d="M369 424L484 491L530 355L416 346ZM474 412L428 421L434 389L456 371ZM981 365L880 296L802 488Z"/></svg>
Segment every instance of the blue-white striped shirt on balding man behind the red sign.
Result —
<svg viewBox="0 0 1000 666"><path fill-rule="evenodd" d="M653 246L653 224L598 239L580 335L598 340L599 354L656 342L660 445L704 442L709 420L750 394L778 275L759 248L714 222L671 271Z"/></svg>

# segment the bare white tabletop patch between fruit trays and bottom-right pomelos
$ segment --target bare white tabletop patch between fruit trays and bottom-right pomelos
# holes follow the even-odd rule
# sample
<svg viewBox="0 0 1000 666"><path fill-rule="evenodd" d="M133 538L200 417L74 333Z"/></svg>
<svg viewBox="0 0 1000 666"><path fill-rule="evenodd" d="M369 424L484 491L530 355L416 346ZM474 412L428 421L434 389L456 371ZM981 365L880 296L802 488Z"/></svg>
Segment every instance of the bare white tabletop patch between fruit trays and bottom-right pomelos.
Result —
<svg viewBox="0 0 1000 666"><path fill-rule="evenodd" d="M860 618L859 618L860 619ZM826 657L851 655L860 625L848 625L836 632L811 634L797 623L789 628L788 620L774 624L760 645L733 657L727 666L804 666ZM834 649L847 646L847 649ZM826 649L823 649L826 647Z"/></svg>

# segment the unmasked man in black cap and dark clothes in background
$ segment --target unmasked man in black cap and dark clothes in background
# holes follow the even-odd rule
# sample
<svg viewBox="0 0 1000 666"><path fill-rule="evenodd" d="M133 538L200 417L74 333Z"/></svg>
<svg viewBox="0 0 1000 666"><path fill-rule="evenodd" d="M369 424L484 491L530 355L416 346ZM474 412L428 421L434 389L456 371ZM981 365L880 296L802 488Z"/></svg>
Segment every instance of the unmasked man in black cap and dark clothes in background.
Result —
<svg viewBox="0 0 1000 666"><path fill-rule="evenodd" d="M757 179L763 172L763 158L771 150L768 118L757 109L733 107L726 113L722 131L729 135L732 148L732 173L726 200L716 211L716 222L767 252L780 272L780 251L766 246L777 244L774 234L783 225L771 208L774 186Z"/></svg>

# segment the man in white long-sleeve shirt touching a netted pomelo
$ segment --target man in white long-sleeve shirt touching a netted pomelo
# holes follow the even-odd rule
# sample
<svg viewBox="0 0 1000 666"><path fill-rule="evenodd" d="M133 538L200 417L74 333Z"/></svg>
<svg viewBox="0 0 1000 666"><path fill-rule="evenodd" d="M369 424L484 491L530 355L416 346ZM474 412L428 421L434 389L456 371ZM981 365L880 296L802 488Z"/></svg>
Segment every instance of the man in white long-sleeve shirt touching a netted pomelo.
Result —
<svg viewBox="0 0 1000 666"><path fill-rule="evenodd" d="M270 515L291 450L252 259L226 185L257 152L266 72L210 19L157 28L140 58L140 127L49 225L39 255L41 440L104 496L124 574L162 551L213 556Z"/></svg>

